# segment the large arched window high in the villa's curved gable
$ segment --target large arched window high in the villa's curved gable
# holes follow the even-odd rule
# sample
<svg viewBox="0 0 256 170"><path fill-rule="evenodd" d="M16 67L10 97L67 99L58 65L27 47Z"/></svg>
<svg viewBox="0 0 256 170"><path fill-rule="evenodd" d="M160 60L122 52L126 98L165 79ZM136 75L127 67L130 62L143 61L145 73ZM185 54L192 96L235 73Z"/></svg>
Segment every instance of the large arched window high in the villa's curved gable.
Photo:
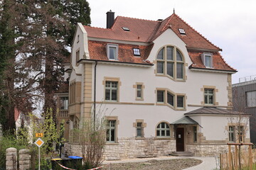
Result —
<svg viewBox="0 0 256 170"><path fill-rule="evenodd" d="M164 74L174 80L184 79L184 59L173 46L164 46L156 57L157 74Z"/></svg>

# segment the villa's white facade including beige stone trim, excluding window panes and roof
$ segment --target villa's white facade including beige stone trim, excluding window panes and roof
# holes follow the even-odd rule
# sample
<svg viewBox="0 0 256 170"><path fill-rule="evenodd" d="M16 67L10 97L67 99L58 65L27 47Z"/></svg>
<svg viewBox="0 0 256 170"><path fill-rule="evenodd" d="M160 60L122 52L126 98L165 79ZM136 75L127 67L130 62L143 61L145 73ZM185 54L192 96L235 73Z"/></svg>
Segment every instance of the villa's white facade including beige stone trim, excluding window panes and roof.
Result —
<svg viewBox="0 0 256 170"><path fill-rule="evenodd" d="M79 38L79 40L78 40ZM154 138L157 140L156 128L159 123L164 122L170 126L170 137L165 139L174 140L175 142L175 130L176 126L172 125L176 120L184 117L184 113L194 111L198 108L207 106L203 103L204 101L204 90L206 87L213 87L215 94L215 104L213 107L218 108L230 108L228 97L230 88L230 72L219 71L219 70L192 70L188 67L193 64L191 57L188 55L186 43L174 33L170 28L156 38L152 43L154 47L151 49L147 60L154 65L145 64L132 64L132 63L121 63L121 62L105 62L90 60L90 53L88 50L88 40L97 40L96 38L87 37L85 28L78 24L78 28L75 34L72 47L72 63L71 68L73 69L70 75L70 84L74 81L80 81L81 96L80 96L80 123L84 120L82 113L85 112L85 106L87 103L93 106L94 103L94 91L96 91L96 113L99 111L100 106L107 109L106 116L114 116L117 120L116 137L115 141L118 145L122 139L134 139L137 136L137 128L134 127L134 123L137 120L143 120L146 123L144 126L144 137ZM121 40L106 40L98 39L102 42L121 43L121 44L134 44L134 45L145 45L142 42L124 42ZM183 55L184 61L184 79L182 81L175 81L170 77L159 76L156 74L156 57L162 47L169 45L176 47ZM80 50L79 59L81 60L76 64L76 52ZM86 102L86 88L85 88L85 72L87 72L87 65L92 64L89 68L91 72L90 81L91 89L91 101ZM95 73L96 70L96 73ZM96 84L94 84L96 74ZM118 80L118 99L117 101L105 101L105 80L106 79L117 79ZM143 100L137 100L137 89L136 84L143 85ZM157 89L166 89L173 92L174 94L183 94L185 97L184 108L174 109L168 105L159 105L157 103L156 91ZM217 141L220 145L225 145L228 140L227 127L230 125L229 115L191 115L197 125L197 132L201 134L202 139L205 141ZM247 126L245 123L243 124ZM185 135L185 150L188 149L186 145L191 145L193 141L189 139L191 128L194 125L181 125L178 127L184 128ZM245 135L248 139L250 136ZM198 136L199 139L199 136ZM219 142L218 142L219 141ZM223 142L224 141L224 142ZM193 143L196 145L201 140ZM248 142L248 141L247 141ZM119 144L121 145L121 144ZM172 151L175 148L172 147Z"/></svg>

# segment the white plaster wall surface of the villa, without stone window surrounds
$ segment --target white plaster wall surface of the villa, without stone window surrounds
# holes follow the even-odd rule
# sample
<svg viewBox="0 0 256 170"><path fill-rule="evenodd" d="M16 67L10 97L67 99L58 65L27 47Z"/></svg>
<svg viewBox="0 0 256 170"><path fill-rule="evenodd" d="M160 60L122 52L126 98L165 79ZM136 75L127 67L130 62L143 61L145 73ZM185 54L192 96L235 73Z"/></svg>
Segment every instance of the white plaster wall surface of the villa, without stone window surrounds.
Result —
<svg viewBox="0 0 256 170"><path fill-rule="evenodd" d="M74 40L72 48L73 56L73 72L71 74L70 81L76 79L76 81L82 81L82 77L77 74L83 74L83 67L80 64L79 67L75 66L75 52L80 47L80 57L88 57L87 54L87 33L82 28L78 27L75 38L80 35L80 42L76 43L77 40ZM83 37L83 39L82 39ZM146 123L146 128L144 128L145 137L154 137L156 125L161 121L166 121L168 123L173 123L179 118L183 118L183 113L193 111L198 107L188 107L188 105L201 105L203 101L203 85L206 86L216 86L218 93L216 94L216 101L220 106L227 106L228 103L228 74L223 73L213 73L213 72L196 72L188 69L189 65L192 64L188 52L186 50L186 44L178 38L178 36L171 30L168 29L162 35L154 40L154 47L151 50L148 60L153 62L156 60L157 52L164 45L174 45L178 47L179 50L183 53L183 57L186 66L186 81L174 81L168 77L157 77L154 73L156 65L152 67L134 67L134 66L124 66L117 64L102 64L98 62L97 64L97 84L96 84L96 101L104 101L104 77L115 77L119 78L122 82L122 85L119 86L119 102L125 103L151 103L152 105L134 105L134 104L103 104L102 107L107 109L106 115L118 116L119 125L118 125L118 137L134 137L135 128L133 123L136 119L144 119ZM131 49L132 50L132 49ZM94 65L92 66L94 68ZM94 77L94 69L92 69L92 77ZM136 89L133 88L133 85L136 82L144 83L144 101L136 101L135 94ZM83 82L82 82L83 83ZM92 91L94 87L94 82L92 81ZM83 86L82 86L83 88ZM156 88L168 88L174 93L186 94L186 111L174 111L168 106L156 106ZM82 89L83 91L83 89ZM82 94L83 95L83 94ZM81 95L81 98L83 98ZM93 95L93 93L92 93ZM93 98L93 96L92 96ZM100 104L97 104L97 111L100 109ZM114 111L113 111L114 110ZM82 111L82 106L81 106ZM96 111L96 112L97 112ZM203 126L203 129L199 129L204 134L206 134L207 140L218 140L224 138L223 126L227 125L225 118L221 119L220 117L195 117L195 120L198 121L200 125ZM212 132L212 127L216 127L216 123L220 124L218 126L218 132L221 132L221 135L218 135L215 132ZM210 129L210 131L209 131Z"/></svg>

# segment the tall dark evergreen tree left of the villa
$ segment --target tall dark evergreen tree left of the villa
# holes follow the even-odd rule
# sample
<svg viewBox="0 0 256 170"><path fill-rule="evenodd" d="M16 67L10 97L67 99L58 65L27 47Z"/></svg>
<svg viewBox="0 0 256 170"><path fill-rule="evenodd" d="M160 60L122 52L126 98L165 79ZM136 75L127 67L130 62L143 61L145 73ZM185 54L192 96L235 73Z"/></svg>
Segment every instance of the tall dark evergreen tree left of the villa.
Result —
<svg viewBox="0 0 256 170"><path fill-rule="evenodd" d="M75 26L90 24L83 0L0 0L0 123L12 130L14 108L27 113L44 101L55 108ZM39 100L40 101L40 100Z"/></svg>

